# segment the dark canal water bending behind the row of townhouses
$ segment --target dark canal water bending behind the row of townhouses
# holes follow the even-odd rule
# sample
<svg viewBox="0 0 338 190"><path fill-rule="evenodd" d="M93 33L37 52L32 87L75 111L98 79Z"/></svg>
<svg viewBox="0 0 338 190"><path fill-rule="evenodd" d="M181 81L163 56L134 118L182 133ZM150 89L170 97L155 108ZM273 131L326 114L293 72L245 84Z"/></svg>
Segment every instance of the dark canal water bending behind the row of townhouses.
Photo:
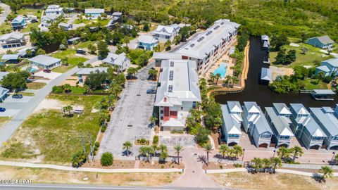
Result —
<svg viewBox="0 0 338 190"><path fill-rule="evenodd" d="M246 80L244 91L234 94L224 94L215 96L218 103L226 103L227 101L256 101L258 106L270 107L273 103L303 103L308 107L334 107L338 103L337 95L334 101L316 101L310 94L277 94L271 91L267 85L259 84L260 72L263 66L264 51L261 50L261 39L257 37L250 38L249 49L249 73Z"/></svg>

